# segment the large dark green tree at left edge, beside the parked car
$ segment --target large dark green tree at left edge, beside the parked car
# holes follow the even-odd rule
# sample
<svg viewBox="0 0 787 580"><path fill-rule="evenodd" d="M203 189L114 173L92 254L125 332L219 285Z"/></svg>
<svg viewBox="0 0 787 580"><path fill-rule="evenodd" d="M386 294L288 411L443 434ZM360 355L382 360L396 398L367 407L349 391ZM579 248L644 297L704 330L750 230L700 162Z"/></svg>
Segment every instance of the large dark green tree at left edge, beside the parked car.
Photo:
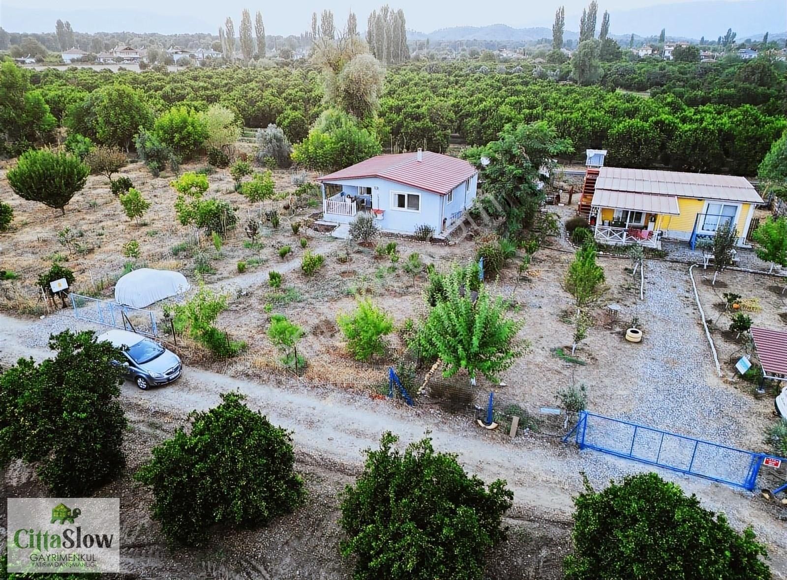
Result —
<svg viewBox="0 0 787 580"><path fill-rule="evenodd" d="M47 284L48 285L48 284ZM84 497L118 475L127 420L120 405L123 354L94 332L51 335L54 358L20 358L0 374L0 465L20 459L59 497ZM52 404L65 413L52 428ZM24 420L20 418L24 417ZM5 568L3 568L5 571Z"/></svg>

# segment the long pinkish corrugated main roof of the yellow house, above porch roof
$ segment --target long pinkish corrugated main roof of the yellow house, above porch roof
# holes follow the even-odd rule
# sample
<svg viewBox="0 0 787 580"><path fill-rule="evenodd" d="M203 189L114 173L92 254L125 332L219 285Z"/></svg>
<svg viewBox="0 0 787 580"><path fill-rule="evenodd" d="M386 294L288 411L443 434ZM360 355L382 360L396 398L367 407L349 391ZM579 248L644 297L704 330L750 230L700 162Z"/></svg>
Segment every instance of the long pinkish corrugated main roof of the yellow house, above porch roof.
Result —
<svg viewBox="0 0 787 580"><path fill-rule="evenodd" d="M596 189L694 197L698 200L763 203L754 185L737 175L600 167Z"/></svg>

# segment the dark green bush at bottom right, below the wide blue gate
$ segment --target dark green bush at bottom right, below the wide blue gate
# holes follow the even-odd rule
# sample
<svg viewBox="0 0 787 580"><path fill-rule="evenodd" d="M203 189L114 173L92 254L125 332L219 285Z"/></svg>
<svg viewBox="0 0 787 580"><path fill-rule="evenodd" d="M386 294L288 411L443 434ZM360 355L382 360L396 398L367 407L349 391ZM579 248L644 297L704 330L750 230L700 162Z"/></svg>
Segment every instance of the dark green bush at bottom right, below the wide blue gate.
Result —
<svg viewBox="0 0 787 580"><path fill-rule="evenodd" d="M629 475L602 491L586 479L574 504L566 580L771 578L761 558L767 551L751 528L738 534L723 514L708 512L656 473Z"/></svg>

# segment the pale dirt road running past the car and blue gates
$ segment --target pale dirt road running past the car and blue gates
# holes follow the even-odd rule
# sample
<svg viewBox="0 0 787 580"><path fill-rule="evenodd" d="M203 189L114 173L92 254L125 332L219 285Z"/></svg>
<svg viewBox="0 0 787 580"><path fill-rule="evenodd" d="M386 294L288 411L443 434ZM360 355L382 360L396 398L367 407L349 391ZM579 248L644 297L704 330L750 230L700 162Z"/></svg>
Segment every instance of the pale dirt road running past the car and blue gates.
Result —
<svg viewBox="0 0 787 580"><path fill-rule="evenodd" d="M58 324L68 326L65 316ZM20 321L0 315L0 362L9 364L21 356L44 358L45 347L29 346L36 325L46 321ZM571 514L571 495L581 490L582 471L596 474L593 484L603 486L604 465L609 472L647 471L646 466L618 461L600 453L579 453L572 446L536 436L515 440L497 432L484 431L467 418L445 417L423 409L401 408L391 402L361 398L338 390L309 390L297 385L274 386L238 380L202 369L187 368L183 378L168 387L140 391L124 384L122 397L135 413L150 413L152 422L171 414L183 420L191 409L209 409L219 402L219 394L239 391L248 397L249 406L273 423L294 431L296 450L310 457L325 457L331 463L356 469L363 450L375 446L382 431L393 431L402 442L412 442L430 431L438 450L458 453L469 472L487 481L501 478L515 494L522 508L533 508L540 516L566 521ZM614 468L614 469L613 469ZM770 546L775 578L787 578L787 534L785 523L775 517L773 508L758 497L726 486L671 472L661 472L679 483L687 493L695 493L703 504L716 512L726 512L733 526L751 525L759 538Z"/></svg>

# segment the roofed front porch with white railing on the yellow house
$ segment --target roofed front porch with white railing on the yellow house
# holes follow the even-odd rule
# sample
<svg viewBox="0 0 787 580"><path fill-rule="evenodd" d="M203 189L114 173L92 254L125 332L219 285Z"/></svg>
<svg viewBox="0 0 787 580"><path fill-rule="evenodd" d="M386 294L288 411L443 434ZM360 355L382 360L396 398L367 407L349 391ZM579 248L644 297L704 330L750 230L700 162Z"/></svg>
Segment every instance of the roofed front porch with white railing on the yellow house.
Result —
<svg viewBox="0 0 787 580"><path fill-rule="evenodd" d="M664 215L680 215L676 196L597 189L589 223L600 244L661 249Z"/></svg>

